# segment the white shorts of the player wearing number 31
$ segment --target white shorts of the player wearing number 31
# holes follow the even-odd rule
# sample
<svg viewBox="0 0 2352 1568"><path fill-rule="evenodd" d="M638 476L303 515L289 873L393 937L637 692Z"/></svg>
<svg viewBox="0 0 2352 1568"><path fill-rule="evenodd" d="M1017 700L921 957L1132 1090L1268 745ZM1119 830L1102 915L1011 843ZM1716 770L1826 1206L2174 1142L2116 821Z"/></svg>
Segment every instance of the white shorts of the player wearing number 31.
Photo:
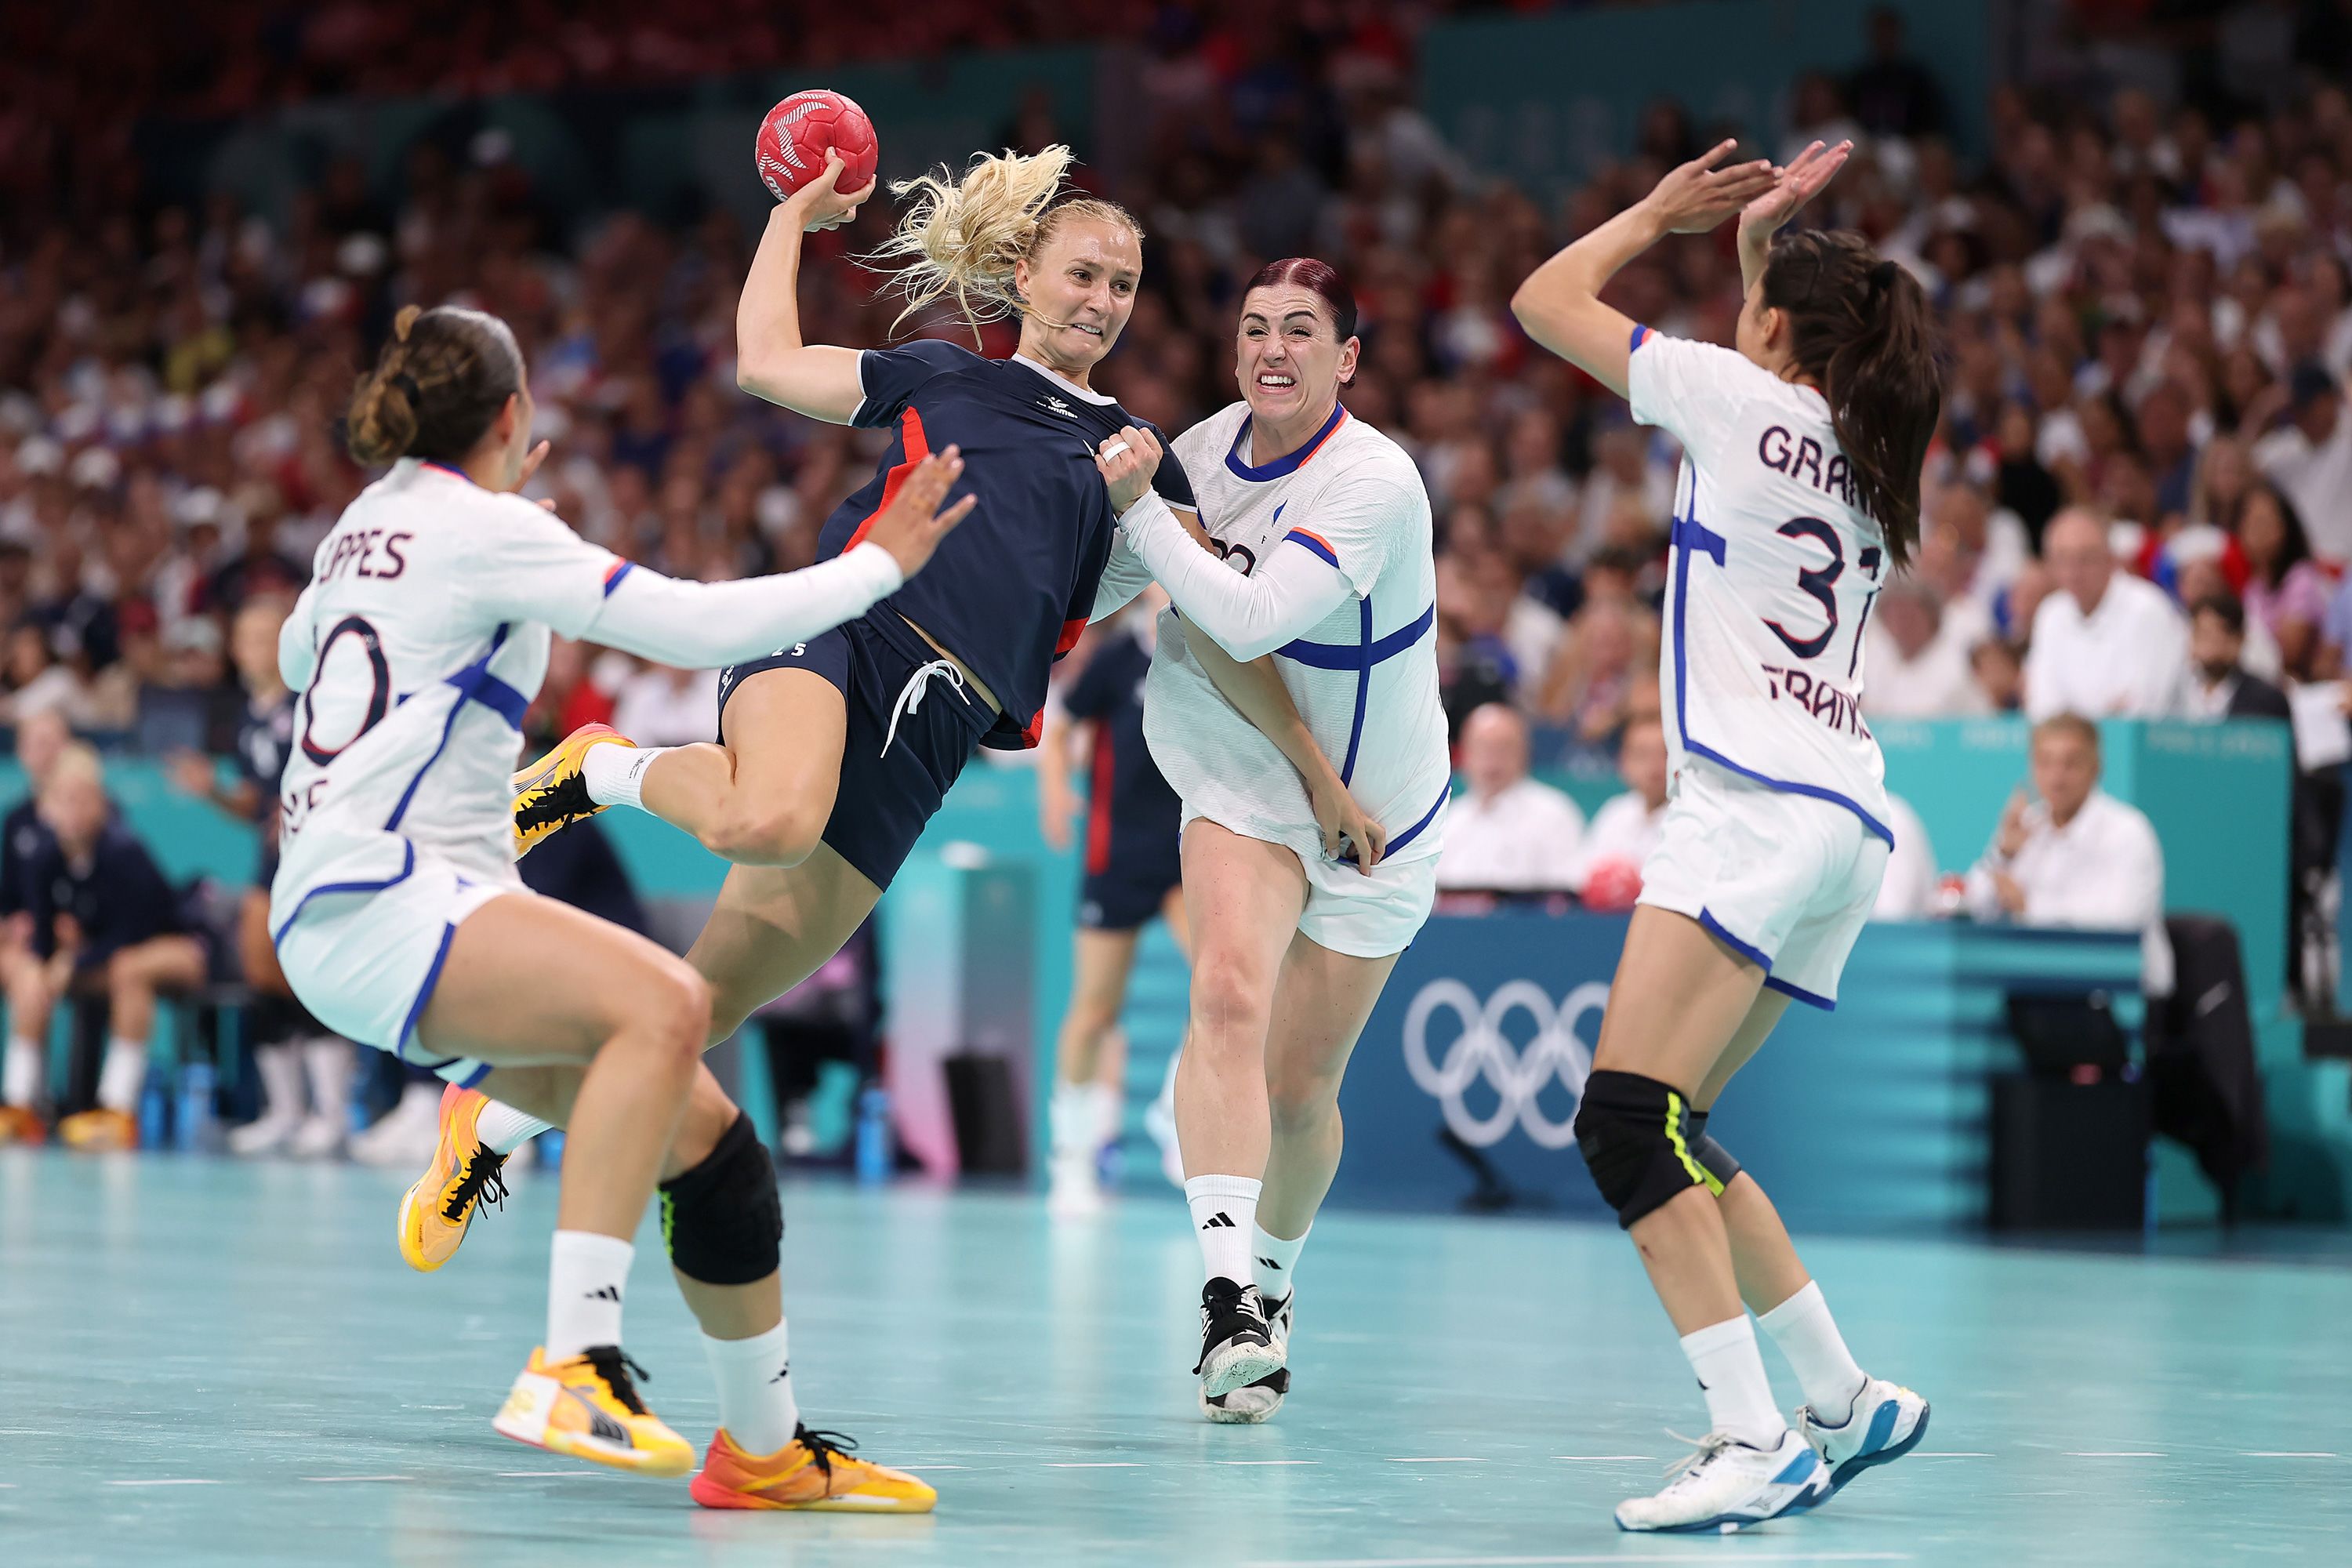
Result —
<svg viewBox="0 0 2352 1568"><path fill-rule="evenodd" d="M1771 990L1832 1009L1886 856L1853 811L1693 757L1642 863L1642 903L1696 919Z"/></svg>

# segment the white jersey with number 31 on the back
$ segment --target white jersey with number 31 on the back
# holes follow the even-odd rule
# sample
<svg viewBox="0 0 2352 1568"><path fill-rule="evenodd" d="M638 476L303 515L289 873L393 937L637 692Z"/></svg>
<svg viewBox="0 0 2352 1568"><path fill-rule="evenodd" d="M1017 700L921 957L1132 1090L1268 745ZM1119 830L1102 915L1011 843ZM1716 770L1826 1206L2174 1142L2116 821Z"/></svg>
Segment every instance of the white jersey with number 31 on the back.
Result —
<svg viewBox="0 0 2352 1568"><path fill-rule="evenodd" d="M1729 348L1635 329L1635 421L1682 442L1658 689L1675 773L1691 757L1886 827L1886 764L1863 722L1863 625L1884 536L1830 404Z"/></svg>

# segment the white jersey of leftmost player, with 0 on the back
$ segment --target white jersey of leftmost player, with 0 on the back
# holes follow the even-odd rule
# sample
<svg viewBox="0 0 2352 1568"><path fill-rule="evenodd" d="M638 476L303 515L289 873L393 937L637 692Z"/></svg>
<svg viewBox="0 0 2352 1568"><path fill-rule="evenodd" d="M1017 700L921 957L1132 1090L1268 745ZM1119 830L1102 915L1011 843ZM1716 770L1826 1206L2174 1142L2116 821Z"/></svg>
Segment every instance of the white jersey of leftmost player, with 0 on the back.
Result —
<svg viewBox="0 0 2352 1568"><path fill-rule="evenodd" d="M454 468L402 458L360 491L280 635L301 705L273 926L322 882L397 875L412 849L520 886L508 778L548 632L586 632L623 571Z"/></svg>

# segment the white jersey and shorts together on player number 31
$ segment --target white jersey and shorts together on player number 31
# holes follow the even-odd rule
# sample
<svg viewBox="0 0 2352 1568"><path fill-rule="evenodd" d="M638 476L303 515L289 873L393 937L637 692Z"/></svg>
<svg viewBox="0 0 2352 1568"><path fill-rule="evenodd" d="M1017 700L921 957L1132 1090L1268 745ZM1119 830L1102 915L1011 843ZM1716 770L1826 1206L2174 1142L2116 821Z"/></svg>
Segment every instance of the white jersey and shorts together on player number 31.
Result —
<svg viewBox="0 0 2352 1568"><path fill-rule="evenodd" d="M1893 846L1860 710L1884 536L1813 388L1635 327L1625 390L1684 454L1658 651L1675 785L1642 903L1828 1009Z"/></svg>

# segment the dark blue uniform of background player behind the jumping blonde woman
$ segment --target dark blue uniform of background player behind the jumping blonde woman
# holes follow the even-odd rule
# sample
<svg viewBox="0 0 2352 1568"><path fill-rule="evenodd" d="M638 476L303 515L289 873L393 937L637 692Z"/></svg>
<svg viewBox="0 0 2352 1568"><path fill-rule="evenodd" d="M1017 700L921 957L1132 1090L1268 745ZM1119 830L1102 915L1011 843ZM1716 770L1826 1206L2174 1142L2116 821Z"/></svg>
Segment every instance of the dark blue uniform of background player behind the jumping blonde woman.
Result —
<svg viewBox="0 0 2352 1568"><path fill-rule="evenodd" d="M1143 677L1150 670L1152 656L1122 625L1063 691L1070 717L1094 722L1077 924L1096 931L1134 931L1160 914L1169 889L1183 882L1176 853L1183 802L1143 745Z"/></svg>

